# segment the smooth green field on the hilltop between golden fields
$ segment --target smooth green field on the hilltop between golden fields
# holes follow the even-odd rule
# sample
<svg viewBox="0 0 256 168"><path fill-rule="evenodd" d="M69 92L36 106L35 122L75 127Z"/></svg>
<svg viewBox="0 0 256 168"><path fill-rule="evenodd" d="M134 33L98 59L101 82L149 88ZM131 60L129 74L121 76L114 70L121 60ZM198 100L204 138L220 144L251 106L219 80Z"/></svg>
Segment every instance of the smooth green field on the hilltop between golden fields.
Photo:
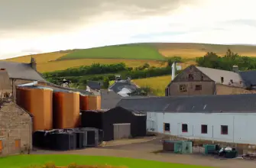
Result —
<svg viewBox="0 0 256 168"><path fill-rule="evenodd" d="M99 59L132 59L132 60L165 60L156 47L143 44L118 45L77 50L68 53L58 60L73 60L84 58Z"/></svg>

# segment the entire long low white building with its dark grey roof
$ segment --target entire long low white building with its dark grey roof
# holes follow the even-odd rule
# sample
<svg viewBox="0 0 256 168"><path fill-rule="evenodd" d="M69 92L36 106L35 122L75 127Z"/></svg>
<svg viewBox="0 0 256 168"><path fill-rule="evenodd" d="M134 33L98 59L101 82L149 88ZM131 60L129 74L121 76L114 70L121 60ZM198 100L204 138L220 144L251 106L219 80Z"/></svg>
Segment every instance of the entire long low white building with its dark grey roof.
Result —
<svg viewBox="0 0 256 168"><path fill-rule="evenodd" d="M256 144L256 94L129 98L117 106L147 112L147 131Z"/></svg>

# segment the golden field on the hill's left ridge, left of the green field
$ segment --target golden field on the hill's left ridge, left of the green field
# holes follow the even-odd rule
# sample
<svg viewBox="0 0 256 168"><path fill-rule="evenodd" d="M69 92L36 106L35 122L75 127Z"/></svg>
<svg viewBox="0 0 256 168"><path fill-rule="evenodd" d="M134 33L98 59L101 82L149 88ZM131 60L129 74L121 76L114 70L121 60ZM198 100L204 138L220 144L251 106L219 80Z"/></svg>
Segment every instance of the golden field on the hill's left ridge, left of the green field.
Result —
<svg viewBox="0 0 256 168"><path fill-rule="evenodd" d="M66 54L68 54L68 53L60 53L58 51L58 52L53 52L53 53L31 54L28 56L15 57L15 58L7 59L7 60L13 61L13 62L18 62L18 63L30 63L31 57L34 57L35 60L37 61L37 64L41 64L41 63L48 63L48 62L57 60L58 58L63 57Z"/></svg>

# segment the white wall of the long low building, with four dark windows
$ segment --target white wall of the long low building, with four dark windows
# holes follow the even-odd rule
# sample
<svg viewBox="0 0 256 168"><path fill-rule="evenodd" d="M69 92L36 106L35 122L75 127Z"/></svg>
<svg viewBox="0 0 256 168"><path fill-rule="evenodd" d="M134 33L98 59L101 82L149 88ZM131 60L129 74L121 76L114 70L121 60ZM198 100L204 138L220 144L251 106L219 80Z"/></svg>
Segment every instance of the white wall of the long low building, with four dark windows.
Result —
<svg viewBox="0 0 256 168"><path fill-rule="evenodd" d="M154 123L154 124L152 124ZM164 131L170 123L170 132ZM188 125L182 132L181 124ZM201 124L207 125L207 134L201 134ZM228 125L228 134L221 134L221 125ZM256 144L256 113L163 113L147 112L147 129L158 133L196 139Z"/></svg>

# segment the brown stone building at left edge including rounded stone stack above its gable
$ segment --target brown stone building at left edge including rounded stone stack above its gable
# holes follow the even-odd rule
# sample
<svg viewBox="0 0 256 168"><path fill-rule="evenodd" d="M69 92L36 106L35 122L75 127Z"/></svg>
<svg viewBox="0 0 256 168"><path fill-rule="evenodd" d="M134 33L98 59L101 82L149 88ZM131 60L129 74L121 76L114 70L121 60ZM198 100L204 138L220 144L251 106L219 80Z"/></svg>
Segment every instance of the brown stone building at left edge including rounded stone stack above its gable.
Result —
<svg viewBox="0 0 256 168"><path fill-rule="evenodd" d="M8 72L0 70L0 156L32 149L32 116L12 101Z"/></svg>

